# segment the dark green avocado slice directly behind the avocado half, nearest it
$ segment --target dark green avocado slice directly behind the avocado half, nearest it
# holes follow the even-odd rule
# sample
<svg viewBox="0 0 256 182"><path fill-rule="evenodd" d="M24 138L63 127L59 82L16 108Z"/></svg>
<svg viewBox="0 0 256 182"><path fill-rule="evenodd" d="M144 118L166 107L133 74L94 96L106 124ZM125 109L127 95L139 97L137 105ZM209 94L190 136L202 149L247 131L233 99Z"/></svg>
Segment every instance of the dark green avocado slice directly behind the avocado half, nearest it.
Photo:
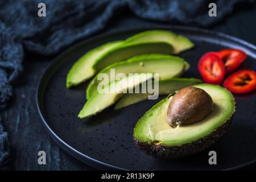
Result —
<svg viewBox="0 0 256 182"><path fill-rule="evenodd" d="M159 80L159 95L167 95L185 86L200 84L202 81L197 78L168 78ZM123 95L115 104L114 109L121 109L137 102L148 99L149 93L131 93Z"/></svg>

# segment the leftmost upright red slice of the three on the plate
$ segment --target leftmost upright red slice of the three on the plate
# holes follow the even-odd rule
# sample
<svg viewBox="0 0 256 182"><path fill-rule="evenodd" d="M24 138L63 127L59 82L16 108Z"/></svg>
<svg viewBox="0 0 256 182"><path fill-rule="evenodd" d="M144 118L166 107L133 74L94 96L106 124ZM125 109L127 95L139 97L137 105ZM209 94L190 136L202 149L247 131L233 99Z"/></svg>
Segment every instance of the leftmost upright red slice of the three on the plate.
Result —
<svg viewBox="0 0 256 182"><path fill-rule="evenodd" d="M223 61L215 52L205 53L199 60L198 69L208 84L221 84L226 72Z"/></svg>

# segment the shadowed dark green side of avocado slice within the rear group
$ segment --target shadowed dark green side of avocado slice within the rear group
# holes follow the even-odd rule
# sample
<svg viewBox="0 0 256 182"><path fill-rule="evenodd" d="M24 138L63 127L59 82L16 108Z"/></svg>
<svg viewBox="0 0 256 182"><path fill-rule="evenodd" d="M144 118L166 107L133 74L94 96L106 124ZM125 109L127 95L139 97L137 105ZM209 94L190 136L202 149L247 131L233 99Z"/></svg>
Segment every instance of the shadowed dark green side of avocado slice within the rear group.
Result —
<svg viewBox="0 0 256 182"><path fill-rule="evenodd" d="M101 71L110 64L129 59L130 57L147 53L170 54L173 48L171 44L164 42L131 42L121 44L105 53L93 64L93 69Z"/></svg>

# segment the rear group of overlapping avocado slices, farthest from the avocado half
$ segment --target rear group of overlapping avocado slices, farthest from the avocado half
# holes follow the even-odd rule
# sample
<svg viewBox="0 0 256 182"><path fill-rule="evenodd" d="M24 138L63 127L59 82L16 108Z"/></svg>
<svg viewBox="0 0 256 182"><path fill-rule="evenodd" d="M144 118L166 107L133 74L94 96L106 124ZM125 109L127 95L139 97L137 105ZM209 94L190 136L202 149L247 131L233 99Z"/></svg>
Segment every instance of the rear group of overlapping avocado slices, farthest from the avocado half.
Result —
<svg viewBox="0 0 256 182"><path fill-rule="evenodd" d="M167 45L168 44L168 45ZM88 80L116 61L144 53L180 53L194 44L184 36L166 30L144 31L125 41L106 43L85 53L68 72L67 88ZM113 59L113 60L112 60Z"/></svg>

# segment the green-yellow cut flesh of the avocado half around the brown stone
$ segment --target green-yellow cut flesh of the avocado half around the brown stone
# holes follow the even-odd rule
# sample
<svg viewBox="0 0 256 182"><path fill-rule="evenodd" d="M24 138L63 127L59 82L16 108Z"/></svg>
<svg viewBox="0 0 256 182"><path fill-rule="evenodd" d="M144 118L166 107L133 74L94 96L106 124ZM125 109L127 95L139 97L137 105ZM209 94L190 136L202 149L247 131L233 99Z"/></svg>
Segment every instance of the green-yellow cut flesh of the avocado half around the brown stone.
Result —
<svg viewBox="0 0 256 182"><path fill-rule="evenodd" d="M163 146L182 146L195 142L217 130L233 115L235 102L228 90L218 85L194 85L205 90L213 99L214 111L207 118L191 125L175 129L167 123L167 109L172 96L147 111L134 129L134 138L139 142Z"/></svg>

